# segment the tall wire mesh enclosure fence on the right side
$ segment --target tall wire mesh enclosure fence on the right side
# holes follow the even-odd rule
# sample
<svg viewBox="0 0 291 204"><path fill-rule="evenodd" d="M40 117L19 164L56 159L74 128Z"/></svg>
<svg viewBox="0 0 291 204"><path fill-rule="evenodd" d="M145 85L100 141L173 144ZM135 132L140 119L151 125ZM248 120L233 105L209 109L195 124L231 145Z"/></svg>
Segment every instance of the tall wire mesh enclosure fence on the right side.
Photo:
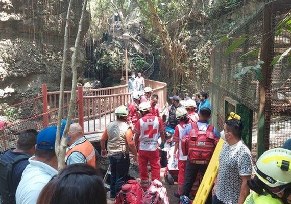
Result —
<svg viewBox="0 0 291 204"><path fill-rule="evenodd" d="M225 116L230 111L245 114L247 110L251 121L247 120L248 124L245 125L246 131L249 130L246 133L250 137L248 136L249 141L245 142L253 143L253 148L259 144L264 150L280 147L291 137L290 62L288 58L284 58L274 66L269 65L274 57L291 47L289 32L283 31L279 36L275 35L278 23L287 15L291 15L290 10L291 2L287 0L266 4L242 22L228 36L229 39L224 38L212 51L210 77L212 124L222 127ZM270 16L270 22L266 22L266 19L268 20L266 15ZM266 25L270 27L268 31L265 29ZM266 39L264 35L267 34L271 38ZM268 50L264 50L265 47L262 45L264 39L270 41ZM238 46L233 48L235 45ZM268 51L269 61L265 62L266 68L262 69L262 77L269 77L263 80L264 83L259 83L255 71L248 71L243 77L234 79L234 75L243 67L254 66L260 59L265 58L263 57L265 51ZM263 98L262 90L265 91ZM258 136L257 140L257 135L260 134L257 133L257 127L261 125L262 116L263 134L261 137Z"/></svg>

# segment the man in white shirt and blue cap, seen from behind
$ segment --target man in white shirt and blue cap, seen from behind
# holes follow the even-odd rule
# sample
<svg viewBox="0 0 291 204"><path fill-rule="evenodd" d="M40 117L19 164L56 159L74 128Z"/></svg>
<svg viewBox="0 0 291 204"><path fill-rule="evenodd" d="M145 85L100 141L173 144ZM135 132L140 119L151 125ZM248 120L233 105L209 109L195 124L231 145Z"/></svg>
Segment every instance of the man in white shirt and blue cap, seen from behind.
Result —
<svg viewBox="0 0 291 204"><path fill-rule="evenodd" d="M63 131L61 130L61 135ZM55 154L57 127L46 127L37 135L35 156L22 173L16 190L16 204L34 204L43 187L57 175L58 160Z"/></svg>

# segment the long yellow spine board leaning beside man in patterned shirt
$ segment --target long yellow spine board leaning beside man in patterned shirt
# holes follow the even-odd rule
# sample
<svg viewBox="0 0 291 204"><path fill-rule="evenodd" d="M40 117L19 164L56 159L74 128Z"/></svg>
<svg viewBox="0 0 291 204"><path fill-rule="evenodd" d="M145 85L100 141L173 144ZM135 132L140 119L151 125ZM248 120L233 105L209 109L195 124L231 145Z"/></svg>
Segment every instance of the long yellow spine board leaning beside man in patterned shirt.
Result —
<svg viewBox="0 0 291 204"><path fill-rule="evenodd" d="M224 143L223 139L220 139L217 143L209 165L206 169L206 172L203 176L193 204L204 204L207 200L207 197L212 190L214 180L216 179L218 168L219 168L219 155Z"/></svg>

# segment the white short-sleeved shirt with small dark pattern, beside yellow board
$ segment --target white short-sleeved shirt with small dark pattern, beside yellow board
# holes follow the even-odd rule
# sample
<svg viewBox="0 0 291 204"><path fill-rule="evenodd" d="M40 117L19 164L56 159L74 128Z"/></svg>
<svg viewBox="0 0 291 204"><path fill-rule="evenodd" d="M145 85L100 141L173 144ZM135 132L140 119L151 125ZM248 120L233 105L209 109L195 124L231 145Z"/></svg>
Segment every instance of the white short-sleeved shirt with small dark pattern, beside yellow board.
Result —
<svg viewBox="0 0 291 204"><path fill-rule="evenodd" d="M225 141L219 156L217 198L227 204L236 204L243 181L240 176L252 174L252 155L243 141L229 146Z"/></svg>

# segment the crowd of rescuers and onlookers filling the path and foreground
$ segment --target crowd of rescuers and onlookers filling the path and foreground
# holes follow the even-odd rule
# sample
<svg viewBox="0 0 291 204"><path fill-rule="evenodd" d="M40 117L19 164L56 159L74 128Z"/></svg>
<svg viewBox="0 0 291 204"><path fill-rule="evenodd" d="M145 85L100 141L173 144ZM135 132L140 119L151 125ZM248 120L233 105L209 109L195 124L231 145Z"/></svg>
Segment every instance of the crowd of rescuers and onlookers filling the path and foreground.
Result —
<svg viewBox="0 0 291 204"><path fill-rule="evenodd" d="M116 120L106 126L101 139L101 156L110 161L111 198L116 198L128 180L132 154L144 191L151 182L160 180L161 168L173 165L168 163L172 157L179 170L174 196L194 199L222 139L218 175L206 203L291 203L291 141L266 151L253 167L251 152L242 140L241 117L231 112L223 130L217 131L209 124L211 105L206 92L192 98L184 94L183 100L171 96L171 105L164 111L158 95L145 86L140 73L136 78L132 74L128 90L131 102L115 109ZM63 121L61 135L65 124ZM56 133L56 126L39 133L26 130L19 135L15 149L0 155L3 204L107 203L106 190L96 173L98 151L84 137L81 125L70 124L66 167L59 173Z"/></svg>

